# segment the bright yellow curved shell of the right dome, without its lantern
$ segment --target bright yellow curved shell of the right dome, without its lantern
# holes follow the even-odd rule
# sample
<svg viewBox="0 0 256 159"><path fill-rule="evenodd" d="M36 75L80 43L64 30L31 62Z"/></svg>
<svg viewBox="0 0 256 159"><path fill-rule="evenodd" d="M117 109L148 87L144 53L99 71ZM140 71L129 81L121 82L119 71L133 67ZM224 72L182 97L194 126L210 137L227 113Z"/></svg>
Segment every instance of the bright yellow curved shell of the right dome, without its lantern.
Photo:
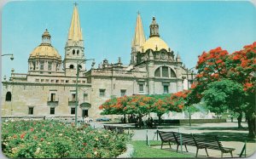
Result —
<svg viewBox="0 0 256 159"><path fill-rule="evenodd" d="M163 41L160 37L150 37L148 40L143 43L143 51L146 52L148 49L152 50L161 50L161 49L166 49L168 51L169 47L166 44L165 41Z"/></svg>

